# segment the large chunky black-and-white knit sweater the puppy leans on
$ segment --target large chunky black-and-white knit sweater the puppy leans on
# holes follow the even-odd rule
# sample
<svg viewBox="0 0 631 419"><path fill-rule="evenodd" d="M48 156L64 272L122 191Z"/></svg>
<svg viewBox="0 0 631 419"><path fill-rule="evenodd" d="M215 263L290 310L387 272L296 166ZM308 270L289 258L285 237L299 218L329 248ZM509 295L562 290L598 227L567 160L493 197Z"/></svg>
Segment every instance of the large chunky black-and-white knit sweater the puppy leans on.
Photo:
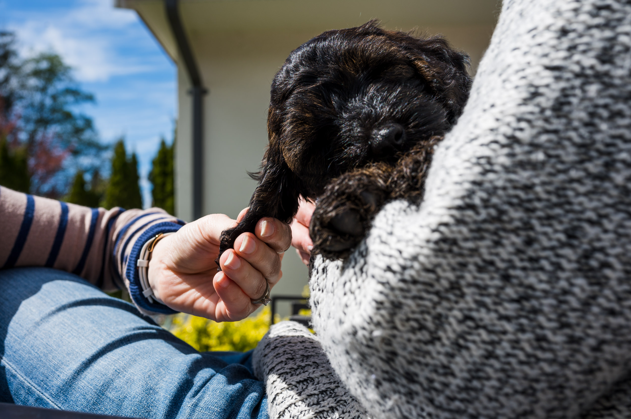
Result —
<svg viewBox="0 0 631 419"><path fill-rule="evenodd" d="M315 260L353 415L631 418L630 50L629 0L505 1L423 203Z"/></svg>

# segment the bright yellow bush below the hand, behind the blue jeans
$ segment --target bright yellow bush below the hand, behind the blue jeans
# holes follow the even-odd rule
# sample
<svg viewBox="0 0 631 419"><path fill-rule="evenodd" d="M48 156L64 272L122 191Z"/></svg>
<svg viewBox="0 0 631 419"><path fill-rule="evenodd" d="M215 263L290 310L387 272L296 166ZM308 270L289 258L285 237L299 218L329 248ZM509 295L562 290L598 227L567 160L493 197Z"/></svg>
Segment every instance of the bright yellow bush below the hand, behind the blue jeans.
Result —
<svg viewBox="0 0 631 419"><path fill-rule="evenodd" d="M240 321L217 323L190 314L175 314L170 331L200 352L233 350L245 352L256 348L269 330L269 307L256 316Z"/></svg>

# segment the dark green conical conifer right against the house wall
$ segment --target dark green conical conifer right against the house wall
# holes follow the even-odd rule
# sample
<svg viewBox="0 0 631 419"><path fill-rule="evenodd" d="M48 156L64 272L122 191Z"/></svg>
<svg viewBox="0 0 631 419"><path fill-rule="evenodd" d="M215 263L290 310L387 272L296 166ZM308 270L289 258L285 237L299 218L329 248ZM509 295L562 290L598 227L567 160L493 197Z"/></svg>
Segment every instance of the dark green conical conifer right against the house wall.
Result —
<svg viewBox="0 0 631 419"><path fill-rule="evenodd" d="M167 146L164 139L160 141L158 154L151 162L149 181L153 185L151 196L152 206L160 207L169 214L174 214L174 176L173 176L173 147Z"/></svg>

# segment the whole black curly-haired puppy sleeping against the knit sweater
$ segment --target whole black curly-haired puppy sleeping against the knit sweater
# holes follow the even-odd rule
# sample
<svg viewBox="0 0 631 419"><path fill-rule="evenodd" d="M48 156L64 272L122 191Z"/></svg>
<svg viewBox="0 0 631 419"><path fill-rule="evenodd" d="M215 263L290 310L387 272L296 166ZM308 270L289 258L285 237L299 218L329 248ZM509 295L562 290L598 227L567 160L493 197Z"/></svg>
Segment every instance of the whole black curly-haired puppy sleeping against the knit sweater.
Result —
<svg viewBox="0 0 631 419"><path fill-rule="evenodd" d="M291 222L300 195L318 198L310 236L327 258L348 255L387 201L418 202L433 146L468 98L468 64L440 36L374 20L293 50L271 86L259 185L220 256L261 217Z"/></svg>

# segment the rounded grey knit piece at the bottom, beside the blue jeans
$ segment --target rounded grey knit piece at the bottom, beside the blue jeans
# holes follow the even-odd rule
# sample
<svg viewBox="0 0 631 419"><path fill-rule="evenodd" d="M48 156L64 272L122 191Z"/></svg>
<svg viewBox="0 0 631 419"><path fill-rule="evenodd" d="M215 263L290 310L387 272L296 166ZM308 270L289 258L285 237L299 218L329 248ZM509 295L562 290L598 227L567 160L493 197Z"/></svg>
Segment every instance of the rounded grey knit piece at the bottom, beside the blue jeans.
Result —
<svg viewBox="0 0 631 419"><path fill-rule="evenodd" d="M367 418L339 381L315 335L295 321L271 326L252 354L266 383L269 418Z"/></svg>

